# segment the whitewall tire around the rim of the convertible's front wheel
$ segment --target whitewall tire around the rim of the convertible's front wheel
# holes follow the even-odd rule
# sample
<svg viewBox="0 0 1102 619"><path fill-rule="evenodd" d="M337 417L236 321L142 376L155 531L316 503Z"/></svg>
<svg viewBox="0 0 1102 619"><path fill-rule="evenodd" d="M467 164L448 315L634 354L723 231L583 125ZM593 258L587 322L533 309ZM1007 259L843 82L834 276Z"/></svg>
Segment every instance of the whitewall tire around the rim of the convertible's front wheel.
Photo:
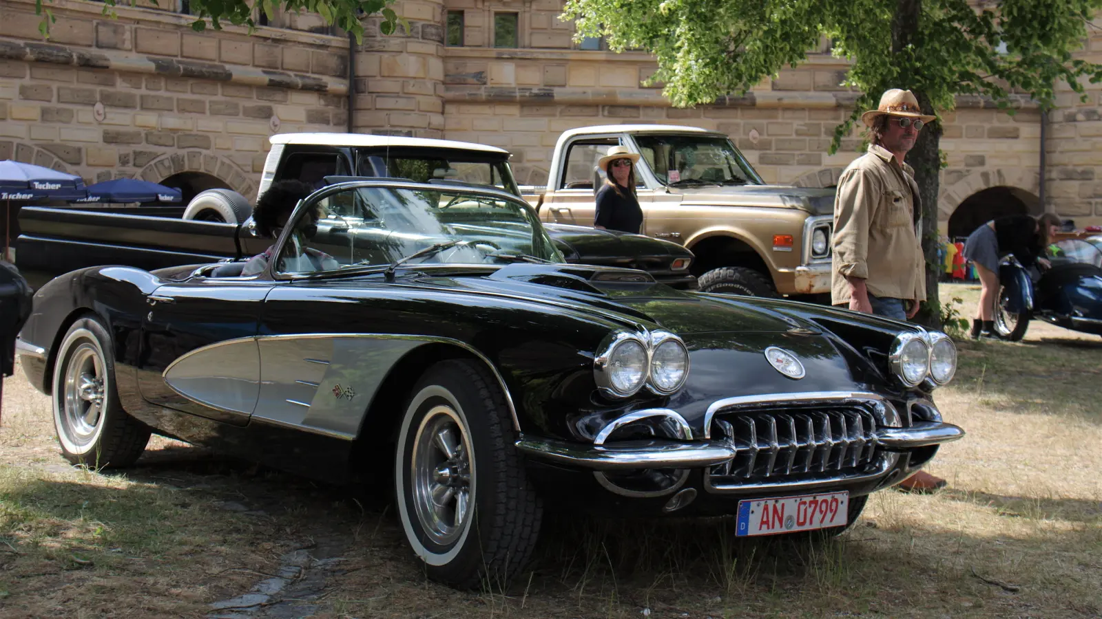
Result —
<svg viewBox="0 0 1102 619"><path fill-rule="evenodd" d="M457 420L457 430L466 432L460 437L469 441L473 484L468 515L452 533L457 536L437 543L440 537L434 537L421 520L414 488L417 471L424 466L422 460L429 461L425 452L418 450L423 443L421 436L430 434L421 430L425 424L435 427L431 420L443 416L441 411L446 413L447 409L454 414L449 419ZM473 360L440 361L411 390L395 449L395 500L406 537L433 580L463 589L497 588L528 564L540 530L542 506L527 479L516 439L505 394ZM424 501L420 506L422 510L432 509Z"/></svg>

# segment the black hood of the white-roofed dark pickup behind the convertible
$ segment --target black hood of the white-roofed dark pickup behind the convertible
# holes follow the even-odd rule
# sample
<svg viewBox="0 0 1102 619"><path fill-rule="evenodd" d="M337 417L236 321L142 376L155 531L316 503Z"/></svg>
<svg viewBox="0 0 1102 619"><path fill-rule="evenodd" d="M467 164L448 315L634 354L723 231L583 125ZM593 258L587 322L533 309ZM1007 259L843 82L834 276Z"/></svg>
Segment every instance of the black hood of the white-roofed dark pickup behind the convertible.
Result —
<svg viewBox="0 0 1102 619"><path fill-rule="evenodd" d="M565 224L544 224L543 227L559 251L571 262L628 264L640 258L692 257L692 252L678 243L644 235Z"/></svg>

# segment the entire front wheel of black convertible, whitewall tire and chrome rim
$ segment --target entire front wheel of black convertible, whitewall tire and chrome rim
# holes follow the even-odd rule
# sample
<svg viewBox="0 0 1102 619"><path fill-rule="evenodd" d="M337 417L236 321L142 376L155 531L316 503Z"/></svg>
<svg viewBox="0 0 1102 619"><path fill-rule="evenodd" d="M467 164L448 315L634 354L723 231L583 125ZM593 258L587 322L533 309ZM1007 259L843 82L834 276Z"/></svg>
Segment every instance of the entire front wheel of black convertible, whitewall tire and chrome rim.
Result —
<svg viewBox="0 0 1102 619"><path fill-rule="evenodd" d="M398 515L428 576L495 586L528 563L542 509L514 443L512 416L469 360L433 365L406 405L395 458Z"/></svg>

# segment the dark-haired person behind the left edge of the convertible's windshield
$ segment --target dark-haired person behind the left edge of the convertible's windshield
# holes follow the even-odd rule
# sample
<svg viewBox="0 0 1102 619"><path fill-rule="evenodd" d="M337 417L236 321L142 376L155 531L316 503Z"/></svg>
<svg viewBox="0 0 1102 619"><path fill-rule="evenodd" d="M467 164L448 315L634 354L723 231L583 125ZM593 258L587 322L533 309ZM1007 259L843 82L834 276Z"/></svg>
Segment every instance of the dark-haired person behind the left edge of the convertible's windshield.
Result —
<svg viewBox="0 0 1102 619"><path fill-rule="evenodd" d="M280 235L283 234L283 228L287 227L288 220L291 219L294 207L299 205L300 200L312 193L314 191L310 185L301 181L289 180L272 183L272 186L257 200L257 207L252 210L252 221L257 226L257 234L262 237L269 237L272 241L278 240ZM329 271L341 267L329 254L305 247L306 239L313 237L313 232L317 230L318 217L320 213L315 206L299 221L295 229L292 230L291 236L288 237L287 250L283 252L280 271L303 273ZM262 253L253 256L245 263L241 274L256 275L257 273L262 273L276 254L276 243L273 242Z"/></svg>

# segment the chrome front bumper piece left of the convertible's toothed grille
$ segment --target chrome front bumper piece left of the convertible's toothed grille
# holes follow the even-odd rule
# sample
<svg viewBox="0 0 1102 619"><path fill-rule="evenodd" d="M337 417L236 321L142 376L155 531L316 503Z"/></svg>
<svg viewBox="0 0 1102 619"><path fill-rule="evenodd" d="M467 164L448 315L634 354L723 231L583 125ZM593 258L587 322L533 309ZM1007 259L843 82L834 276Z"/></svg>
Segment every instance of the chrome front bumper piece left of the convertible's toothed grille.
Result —
<svg viewBox="0 0 1102 619"><path fill-rule="evenodd" d="M595 470L700 468L735 457L735 448L722 441L693 444L673 441L624 441L613 446L602 446L533 436L521 437L516 445L529 456Z"/></svg>

